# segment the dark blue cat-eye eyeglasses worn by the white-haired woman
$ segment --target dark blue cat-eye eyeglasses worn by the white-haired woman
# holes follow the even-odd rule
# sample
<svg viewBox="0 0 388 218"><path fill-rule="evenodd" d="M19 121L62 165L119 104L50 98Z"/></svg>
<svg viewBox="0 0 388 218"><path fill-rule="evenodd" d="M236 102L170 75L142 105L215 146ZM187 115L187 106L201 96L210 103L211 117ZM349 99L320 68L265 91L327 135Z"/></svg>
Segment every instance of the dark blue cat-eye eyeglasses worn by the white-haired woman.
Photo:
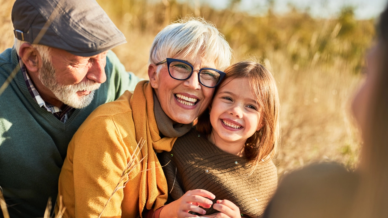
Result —
<svg viewBox="0 0 388 218"><path fill-rule="evenodd" d="M166 58L156 65L167 62L168 73L175 80L187 80L193 74L194 67L185 61ZM213 68L201 68L198 71L198 81L205 87L215 88L224 78L225 73Z"/></svg>

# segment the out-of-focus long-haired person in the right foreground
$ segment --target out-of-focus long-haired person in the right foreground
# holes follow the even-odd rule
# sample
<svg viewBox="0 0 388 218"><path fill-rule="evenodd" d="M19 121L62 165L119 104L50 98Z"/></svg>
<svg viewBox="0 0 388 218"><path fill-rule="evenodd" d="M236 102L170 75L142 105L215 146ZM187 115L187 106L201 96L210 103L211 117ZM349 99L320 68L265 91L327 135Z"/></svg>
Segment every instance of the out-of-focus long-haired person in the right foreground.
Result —
<svg viewBox="0 0 388 218"><path fill-rule="evenodd" d="M367 55L366 79L352 111L364 144L355 172L314 164L284 176L265 218L383 218L388 215L388 9Z"/></svg>

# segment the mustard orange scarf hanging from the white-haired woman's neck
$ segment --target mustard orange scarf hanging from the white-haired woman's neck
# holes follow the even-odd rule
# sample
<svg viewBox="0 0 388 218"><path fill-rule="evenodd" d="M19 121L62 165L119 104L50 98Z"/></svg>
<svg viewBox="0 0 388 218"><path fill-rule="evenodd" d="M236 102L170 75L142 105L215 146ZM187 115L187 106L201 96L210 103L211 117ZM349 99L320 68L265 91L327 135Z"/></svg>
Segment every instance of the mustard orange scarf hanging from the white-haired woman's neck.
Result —
<svg viewBox="0 0 388 218"><path fill-rule="evenodd" d="M167 201L167 182L161 165L154 152L155 150L171 151L177 137L159 136L158 125L154 114L153 89L148 81L140 81L131 99L132 117L135 123L136 141L141 139L145 143L141 149L143 160L143 172L140 183L139 211L144 206L158 209ZM147 171L144 171L147 169Z"/></svg>

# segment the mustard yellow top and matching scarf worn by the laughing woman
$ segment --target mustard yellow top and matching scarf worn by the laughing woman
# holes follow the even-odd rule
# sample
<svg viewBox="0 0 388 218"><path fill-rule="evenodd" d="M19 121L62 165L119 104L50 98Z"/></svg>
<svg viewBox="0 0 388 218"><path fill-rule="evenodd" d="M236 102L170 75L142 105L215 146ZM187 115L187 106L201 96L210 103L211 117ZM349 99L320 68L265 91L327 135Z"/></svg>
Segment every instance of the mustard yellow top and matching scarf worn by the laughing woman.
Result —
<svg viewBox="0 0 388 218"><path fill-rule="evenodd" d="M164 205L167 183L153 149L171 151L177 137L159 137L153 90L148 81L140 81L133 95L126 91L97 107L74 134L59 176L65 218L98 217L141 138L146 142L136 158L145 159L102 216L134 218L144 208Z"/></svg>

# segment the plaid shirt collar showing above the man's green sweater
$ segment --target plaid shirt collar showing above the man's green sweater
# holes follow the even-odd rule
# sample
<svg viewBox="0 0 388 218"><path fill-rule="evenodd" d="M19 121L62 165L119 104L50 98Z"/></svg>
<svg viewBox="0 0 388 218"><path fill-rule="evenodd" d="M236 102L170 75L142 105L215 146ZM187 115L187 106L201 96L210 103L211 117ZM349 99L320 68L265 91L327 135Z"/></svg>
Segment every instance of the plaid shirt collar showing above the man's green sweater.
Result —
<svg viewBox="0 0 388 218"><path fill-rule="evenodd" d="M56 107L48 102L45 102L42 99L42 97L40 97L38 90L36 90L31 79L29 78L28 73L26 71L26 67L23 64L23 61L21 61L19 55L16 55L16 56L17 56L17 61L19 61L19 65L23 74L24 81L26 82L28 92L31 94L33 99L36 101L36 103L39 104L40 107L44 107L47 111L52 113L57 119L65 123L75 109L73 107L66 105L66 107L63 110L61 110L59 107Z"/></svg>

